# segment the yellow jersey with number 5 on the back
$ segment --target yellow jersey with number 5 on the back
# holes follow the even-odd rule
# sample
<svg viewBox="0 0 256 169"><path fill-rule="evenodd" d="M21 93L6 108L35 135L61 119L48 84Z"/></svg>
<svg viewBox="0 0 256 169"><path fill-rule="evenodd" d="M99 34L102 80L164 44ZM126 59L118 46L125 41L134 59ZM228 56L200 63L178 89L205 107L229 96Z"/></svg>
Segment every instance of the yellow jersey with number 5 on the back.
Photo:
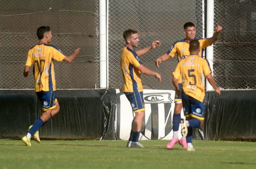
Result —
<svg viewBox="0 0 256 169"><path fill-rule="evenodd" d="M211 73L206 59L190 55L180 61L173 72L176 79L182 77L182 92L203 102L205 97L205 76Z"/></svg>

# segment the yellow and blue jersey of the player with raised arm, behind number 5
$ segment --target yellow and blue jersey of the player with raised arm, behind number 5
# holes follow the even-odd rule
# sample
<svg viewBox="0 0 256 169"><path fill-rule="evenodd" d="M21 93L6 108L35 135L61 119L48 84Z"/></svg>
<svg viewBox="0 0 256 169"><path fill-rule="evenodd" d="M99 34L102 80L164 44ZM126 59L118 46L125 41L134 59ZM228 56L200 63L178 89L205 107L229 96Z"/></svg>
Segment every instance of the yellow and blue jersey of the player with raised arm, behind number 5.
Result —
<svg viewBox="0 0 256 169"><path fill-rule="evenodd" d="M200 44L200 51L198 55L203 57L204 48L210 46L208 39L198 39ZM167 51L170 57L174 57L177 53L178 62L190 55L189 43L185 39L174 42L171 49Z"/></svg>

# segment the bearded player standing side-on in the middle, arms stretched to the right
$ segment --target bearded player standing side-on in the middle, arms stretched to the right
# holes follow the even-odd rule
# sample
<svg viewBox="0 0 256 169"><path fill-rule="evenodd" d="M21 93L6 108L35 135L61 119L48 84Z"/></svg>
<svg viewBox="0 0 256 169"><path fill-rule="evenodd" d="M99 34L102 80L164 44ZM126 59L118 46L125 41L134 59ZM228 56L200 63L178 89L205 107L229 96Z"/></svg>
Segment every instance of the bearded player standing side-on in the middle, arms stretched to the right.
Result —
<svg viewBox="0 0 256 169"><path fill-rule="evenodd" d="M138 142L142 120L145 115L141 73L155 76L159 82L161 82L161 75L145 67L140 61L139 56L149 52L156 46L160 46L161 42L153 41L151 46L134 51L134 48L138 48L140 41L138 32L128 29L124 31L123 37L126 41L126 45L122 49L120 58L121 69L124 77L123 92L130 101L132 110L135 113L135 117L132 121L130 138L126 146L142 148L143 146Z"/></svg>

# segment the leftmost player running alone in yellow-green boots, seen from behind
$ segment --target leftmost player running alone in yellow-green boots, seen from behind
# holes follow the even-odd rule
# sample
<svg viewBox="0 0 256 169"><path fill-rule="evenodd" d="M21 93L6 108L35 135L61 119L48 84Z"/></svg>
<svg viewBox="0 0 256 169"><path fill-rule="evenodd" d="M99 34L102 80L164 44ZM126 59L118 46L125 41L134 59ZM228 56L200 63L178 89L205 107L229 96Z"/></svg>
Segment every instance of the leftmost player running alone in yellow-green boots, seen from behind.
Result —
<svg viewBox="0 0 256 169"><path fill-rule="evenodd" d="M55 116L60 106L56 99L55 91L55 72L53 60L71 62L80 52L81 48L74 50L74 53L66 56L54 45L49 45L52 39L52 31L49 26L41 26L37 29L39 43L28 51L27 61L23 75L28 76L29 68L33 65L35 78L35 92L42 103L42 115L38 118L22 141L31 146L31 136L40 143L38 129L43 126L50 118Z"/></svg>

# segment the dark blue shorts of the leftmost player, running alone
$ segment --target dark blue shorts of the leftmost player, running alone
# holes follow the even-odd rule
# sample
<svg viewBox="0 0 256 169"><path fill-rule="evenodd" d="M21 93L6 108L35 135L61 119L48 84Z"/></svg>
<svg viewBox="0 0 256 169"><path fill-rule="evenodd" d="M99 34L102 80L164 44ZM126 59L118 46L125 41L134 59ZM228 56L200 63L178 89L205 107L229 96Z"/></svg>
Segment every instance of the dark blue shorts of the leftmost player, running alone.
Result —
<svg viewBox="0 0 256 169"><path fill-rule="evenodd" d="M56 95L55 95L55 91L49 91L49 92L44 92L44 91L40 91L40 92L36 92L37 97L39 98L39 100L42 103L43 106L43 110L49 110L49 109L54 109L56 107Z"/></svg>

